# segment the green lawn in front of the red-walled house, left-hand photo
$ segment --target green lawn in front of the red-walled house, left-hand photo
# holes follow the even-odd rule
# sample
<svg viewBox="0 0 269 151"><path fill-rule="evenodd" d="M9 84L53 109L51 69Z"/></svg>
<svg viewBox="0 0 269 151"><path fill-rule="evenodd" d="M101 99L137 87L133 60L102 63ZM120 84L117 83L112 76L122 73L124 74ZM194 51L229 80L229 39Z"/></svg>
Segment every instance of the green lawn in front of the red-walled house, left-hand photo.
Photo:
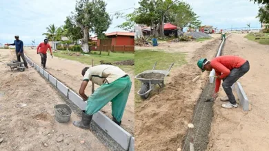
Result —
<svg viewBox="0 0 269 151"><path fill-rule="evenodd" d="M59 58L66 58L68 60L76 60L87 65L92 65L92 59L94 60L94 65L100 65L101 60L113 63L116 61L135 59L135 54L132 53L123 54L117 52L110 52L110 56L108 56L108 52L102 52L101 55L99 55L99 51L91 51L90 54L81 54L81 56L70 56L64 53L80 54L79 52L73 52L73 51L59 51L57 53L54 52L54 56L57 56ZM128 66L128 65L117 65L117 66L126 72L134 71L135 69L134 66Z"/></svg>

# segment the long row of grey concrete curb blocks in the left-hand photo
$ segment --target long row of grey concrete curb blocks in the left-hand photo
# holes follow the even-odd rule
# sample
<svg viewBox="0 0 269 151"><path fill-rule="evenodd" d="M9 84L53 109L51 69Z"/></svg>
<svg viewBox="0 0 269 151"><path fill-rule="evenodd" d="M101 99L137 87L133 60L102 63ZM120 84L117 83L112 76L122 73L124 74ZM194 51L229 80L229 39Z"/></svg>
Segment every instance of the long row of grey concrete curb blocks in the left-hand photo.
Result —
<svg viewBox="0 0 269 151"><path fill-rule="evenodd" d="M26 55L25 55L26 56ZM69 100L71 100L74 104L76 104L81 110L85 110L86 108L86 102L83 102L82 98L77 95L74 91L68 88L65 84L59 82L57 78L54 78L48 71L42 69L37 64L35 64L28 56L26 56L27 62L34 67L41 75L44 76L47 80L50 81L51 84L56 86L56 88L66 95ZM92 120L100 127L102 128L114 141L119 143L119 145L126 151L135 150L135 139L132 139L132 135L130 135L129 132L121 128L121 126L118 126L114 123L110 118L108 118L106 115L101 113L100 111L98 113L95 113L92 117Z"/></svg>

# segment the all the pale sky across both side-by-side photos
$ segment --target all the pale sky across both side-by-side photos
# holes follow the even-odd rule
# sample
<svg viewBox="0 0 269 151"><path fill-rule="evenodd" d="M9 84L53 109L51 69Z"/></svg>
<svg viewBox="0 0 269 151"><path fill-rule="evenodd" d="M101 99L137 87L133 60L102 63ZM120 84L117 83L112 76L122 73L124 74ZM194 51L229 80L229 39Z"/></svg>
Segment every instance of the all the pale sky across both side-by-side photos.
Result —
<svg viewBox="0 0 269 151"><path fill-rule="evenodd" d="M107 12L123 10L130 13L138 8L139 0L105 0ZM260 27L256 19L259 6L249 0L181 0L190 3L200 16L203 25L213 25L218 29L235 27ZM74 12L75 0L0 0L0 43L12 43L14 35L19 34L24 44L43 41L46 27L54 23L57 27L64 24L66 16ZM113 19L108 32L122 31L115 28L124 19Z"/></svg>

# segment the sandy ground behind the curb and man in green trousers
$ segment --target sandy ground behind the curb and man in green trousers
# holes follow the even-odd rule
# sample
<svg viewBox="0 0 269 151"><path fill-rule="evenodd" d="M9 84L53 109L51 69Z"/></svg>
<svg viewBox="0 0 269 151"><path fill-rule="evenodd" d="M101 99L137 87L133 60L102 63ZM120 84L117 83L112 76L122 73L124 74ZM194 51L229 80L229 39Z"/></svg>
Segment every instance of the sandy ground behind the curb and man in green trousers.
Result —
<svg viewBox="0 0 269 151"><path fill-rule="evenodd" d="M36 50L26 50L26 54L37 63L37 65L40 65L41 60L40 56L37 55ZM73 91L79 93L79 88L82 82L82 76L81 76L81 70L84 67L89 67L90 65L85 65L77 61L73 60L67 60L63 58L57 58L53 57L51 58L50 55L48 55L47 60L47 69L49 73L54 75L55 78L66 84L70 89ZM128 98L128 102L126 104L126 110L123 115L122 119L122 127L130 132L131 134L134 134L134 122L135 122L135 78L132 73L132 71L128 72L126 71L132 80L132 89ZM98 86L95 84L94 89L97 89ZM91 88L91 82L89 82L87 89L86 89L86 95L90 95L92 91ZM101 111L105 113L108 117L112 118L111 116L111 104L107 104L104 106Z"/></svg>

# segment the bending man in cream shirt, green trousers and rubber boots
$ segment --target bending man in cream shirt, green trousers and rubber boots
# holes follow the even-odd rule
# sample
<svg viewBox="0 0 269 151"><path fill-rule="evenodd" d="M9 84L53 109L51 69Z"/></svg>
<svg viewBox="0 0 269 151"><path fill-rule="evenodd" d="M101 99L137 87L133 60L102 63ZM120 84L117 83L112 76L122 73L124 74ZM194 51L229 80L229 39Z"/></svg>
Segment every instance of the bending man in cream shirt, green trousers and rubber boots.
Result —
<svg viewBox="0 0 269 151"><path fill-rule="evenodd" d="M92 115L97 113L103 106L112 102L112 121L119 126L123 117L124 108L132 82L127 73L112 65L97 65L86 67L81 72L83 82L79 89L79 95L83 101L88 100L86 111L82 112L81 121L74 121L74 126L79 128L90 128ZM89 81L100 87L89 97L85 95L85 89Z"/></svg>

